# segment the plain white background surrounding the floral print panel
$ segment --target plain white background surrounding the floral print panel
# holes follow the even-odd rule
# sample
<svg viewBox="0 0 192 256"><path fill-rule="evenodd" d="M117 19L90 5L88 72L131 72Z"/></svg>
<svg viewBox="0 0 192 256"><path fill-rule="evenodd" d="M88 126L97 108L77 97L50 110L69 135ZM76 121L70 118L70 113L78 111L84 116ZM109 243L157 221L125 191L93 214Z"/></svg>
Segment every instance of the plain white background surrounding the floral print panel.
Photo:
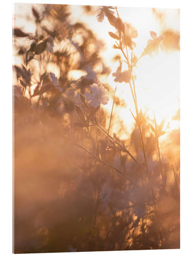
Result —
<svg viewBox="0 0 192 256"><path fill-rule="evenodd" d="M13 3L116 5L181 9L181 249L155 251L76 252L74 255L191 254L191 3L189 0L6 1L1 3L1 254L12 254L12 5ZM47 253L42 253L47 254ZM47 254L50 255L50 254ZM61 255L52 253L51 255ZM65 253L62 255L71 255Z"/></svg>

